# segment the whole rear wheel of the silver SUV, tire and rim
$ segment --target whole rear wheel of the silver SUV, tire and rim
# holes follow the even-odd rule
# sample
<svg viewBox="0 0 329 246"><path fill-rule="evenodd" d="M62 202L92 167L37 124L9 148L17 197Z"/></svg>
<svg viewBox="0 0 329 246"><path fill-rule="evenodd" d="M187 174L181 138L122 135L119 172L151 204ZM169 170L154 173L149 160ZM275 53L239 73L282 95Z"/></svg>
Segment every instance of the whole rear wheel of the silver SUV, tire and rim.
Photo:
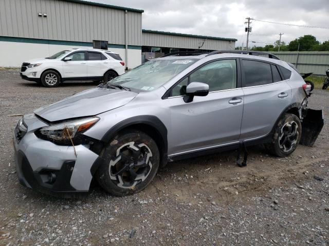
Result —
<svg viewBox="0 0 329 246"><path fill-rule="evenodd" d="M295 114L286 113L275 126L273 139L266 148L273 155L288 156L296 150L301 135L300 119Z"/></svg>

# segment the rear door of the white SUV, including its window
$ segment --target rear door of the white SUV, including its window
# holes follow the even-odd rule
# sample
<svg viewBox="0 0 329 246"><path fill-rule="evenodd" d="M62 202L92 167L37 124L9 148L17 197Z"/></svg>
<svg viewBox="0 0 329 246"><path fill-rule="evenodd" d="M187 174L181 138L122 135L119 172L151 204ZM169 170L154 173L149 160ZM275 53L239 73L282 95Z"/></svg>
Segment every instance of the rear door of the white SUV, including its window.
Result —
<svg viewBox="0 0 329 246"><path fill-rule="evenodd" d="M102 77L108 70L108 61L101 52L88 51L88 77Z"/></svg>

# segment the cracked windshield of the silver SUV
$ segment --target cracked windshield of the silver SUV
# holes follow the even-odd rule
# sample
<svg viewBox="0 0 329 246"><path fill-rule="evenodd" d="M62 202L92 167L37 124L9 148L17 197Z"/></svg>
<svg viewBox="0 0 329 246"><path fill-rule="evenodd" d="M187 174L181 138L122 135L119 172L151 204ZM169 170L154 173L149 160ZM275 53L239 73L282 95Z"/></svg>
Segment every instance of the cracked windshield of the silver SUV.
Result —
<svg viewBox="0 0 329 246"><path fill-rule="evenodd" d="M153 91L198 59L154 59L108 81L108 85L123 86L140 91Z"/></svg>

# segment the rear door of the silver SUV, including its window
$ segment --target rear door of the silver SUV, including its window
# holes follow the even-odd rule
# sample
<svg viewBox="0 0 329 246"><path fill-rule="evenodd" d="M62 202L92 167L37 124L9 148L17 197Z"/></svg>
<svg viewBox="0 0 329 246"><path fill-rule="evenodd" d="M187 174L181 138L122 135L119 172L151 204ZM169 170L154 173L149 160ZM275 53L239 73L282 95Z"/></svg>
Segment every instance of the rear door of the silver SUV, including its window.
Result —
<svg viewBox="0 0 329 246"><path fill-rule="evenodd" d="M267 135L276 120L289 106L291 88L278 67L265 61L241 59L244 109L241 139Z"/></svg>

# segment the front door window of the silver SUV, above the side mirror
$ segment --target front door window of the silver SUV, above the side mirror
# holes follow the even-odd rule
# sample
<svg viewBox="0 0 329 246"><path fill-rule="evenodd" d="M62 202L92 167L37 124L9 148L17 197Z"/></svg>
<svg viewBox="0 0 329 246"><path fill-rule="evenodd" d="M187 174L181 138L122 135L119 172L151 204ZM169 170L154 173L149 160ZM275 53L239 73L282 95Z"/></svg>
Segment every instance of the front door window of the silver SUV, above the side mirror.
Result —
<svg viewBox="0 0 329 246"><path fill-rule="evenodd" d="M208 84L209 91L236 88L236 61L235 59L213 61L192 73L190 82Z"/></svg>

